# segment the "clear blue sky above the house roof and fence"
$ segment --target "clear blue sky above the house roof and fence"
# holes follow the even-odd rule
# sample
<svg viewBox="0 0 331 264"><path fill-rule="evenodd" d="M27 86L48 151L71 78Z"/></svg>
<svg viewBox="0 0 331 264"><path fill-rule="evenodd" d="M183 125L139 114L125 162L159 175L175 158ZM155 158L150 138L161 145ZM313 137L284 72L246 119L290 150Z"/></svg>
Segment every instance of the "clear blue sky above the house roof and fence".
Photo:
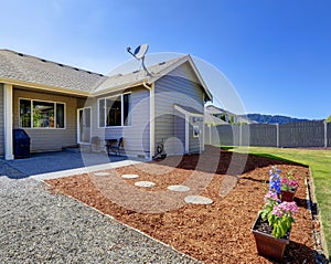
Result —
<svg viewBox="0 0 331 264"><path fill-rule="evenodd" d="M107 74L131 59L127 46L148 43L149 53L215 66L246 113L322 119L331 115L330 10L329 0L2 0L0 49Z"/></svg>

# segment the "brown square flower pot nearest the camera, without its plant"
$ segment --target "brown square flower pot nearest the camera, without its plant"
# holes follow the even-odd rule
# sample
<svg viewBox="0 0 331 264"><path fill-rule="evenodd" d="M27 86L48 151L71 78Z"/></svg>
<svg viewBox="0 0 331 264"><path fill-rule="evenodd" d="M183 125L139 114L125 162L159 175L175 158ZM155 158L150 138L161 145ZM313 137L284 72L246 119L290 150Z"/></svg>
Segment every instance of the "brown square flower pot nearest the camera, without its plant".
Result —
<svg viewBox="0 0 331 264"><path fill-rule="evenodd" d="M287 239L275 239L273 234L268 234L257 230L260 221L260 215L257 215L252 228L257 253L261 256L280 261L282 258L285 247L289 243L289 234L287 235Z"/></svg>

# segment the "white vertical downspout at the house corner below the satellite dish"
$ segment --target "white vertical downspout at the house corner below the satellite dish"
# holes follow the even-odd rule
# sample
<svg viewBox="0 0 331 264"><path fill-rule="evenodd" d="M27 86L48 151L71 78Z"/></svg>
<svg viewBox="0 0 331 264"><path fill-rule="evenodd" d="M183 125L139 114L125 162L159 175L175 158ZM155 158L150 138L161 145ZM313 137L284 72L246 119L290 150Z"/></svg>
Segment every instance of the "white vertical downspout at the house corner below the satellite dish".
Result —
<svg viewBox="0 0 331 264"><path fill-rule="evenodd" d="M142 83L143 87L149 89L149 152L150 159L152 159L156 155L154 146L156 146L156 98L154 98L154 83L150 86L147 83Z"/></svg>

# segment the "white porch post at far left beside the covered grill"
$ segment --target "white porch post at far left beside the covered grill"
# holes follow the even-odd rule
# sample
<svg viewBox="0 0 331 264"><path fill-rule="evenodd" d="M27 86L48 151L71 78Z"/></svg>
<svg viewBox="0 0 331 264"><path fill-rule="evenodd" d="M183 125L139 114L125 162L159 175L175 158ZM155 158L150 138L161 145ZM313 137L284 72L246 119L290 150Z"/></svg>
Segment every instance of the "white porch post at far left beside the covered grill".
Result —
<svg viewBox="0 0 331 264"><path fill-rule="evenodd" d="M12 85L3 85L3 114L4 114L4 159L12 160L13 138L12 138Z"/></svg>

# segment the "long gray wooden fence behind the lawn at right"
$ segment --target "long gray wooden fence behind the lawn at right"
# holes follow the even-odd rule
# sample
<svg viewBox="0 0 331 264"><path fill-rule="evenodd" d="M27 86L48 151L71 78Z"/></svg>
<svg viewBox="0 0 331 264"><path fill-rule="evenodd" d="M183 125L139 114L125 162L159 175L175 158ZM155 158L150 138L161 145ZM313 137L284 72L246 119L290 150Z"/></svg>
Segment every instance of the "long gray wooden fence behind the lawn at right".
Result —
<svg viewBox="0 0 331 264"><path fill-rule="evenodd" d="M331 123L205 126L206 145L260 147L331 147Z"/></svg>

